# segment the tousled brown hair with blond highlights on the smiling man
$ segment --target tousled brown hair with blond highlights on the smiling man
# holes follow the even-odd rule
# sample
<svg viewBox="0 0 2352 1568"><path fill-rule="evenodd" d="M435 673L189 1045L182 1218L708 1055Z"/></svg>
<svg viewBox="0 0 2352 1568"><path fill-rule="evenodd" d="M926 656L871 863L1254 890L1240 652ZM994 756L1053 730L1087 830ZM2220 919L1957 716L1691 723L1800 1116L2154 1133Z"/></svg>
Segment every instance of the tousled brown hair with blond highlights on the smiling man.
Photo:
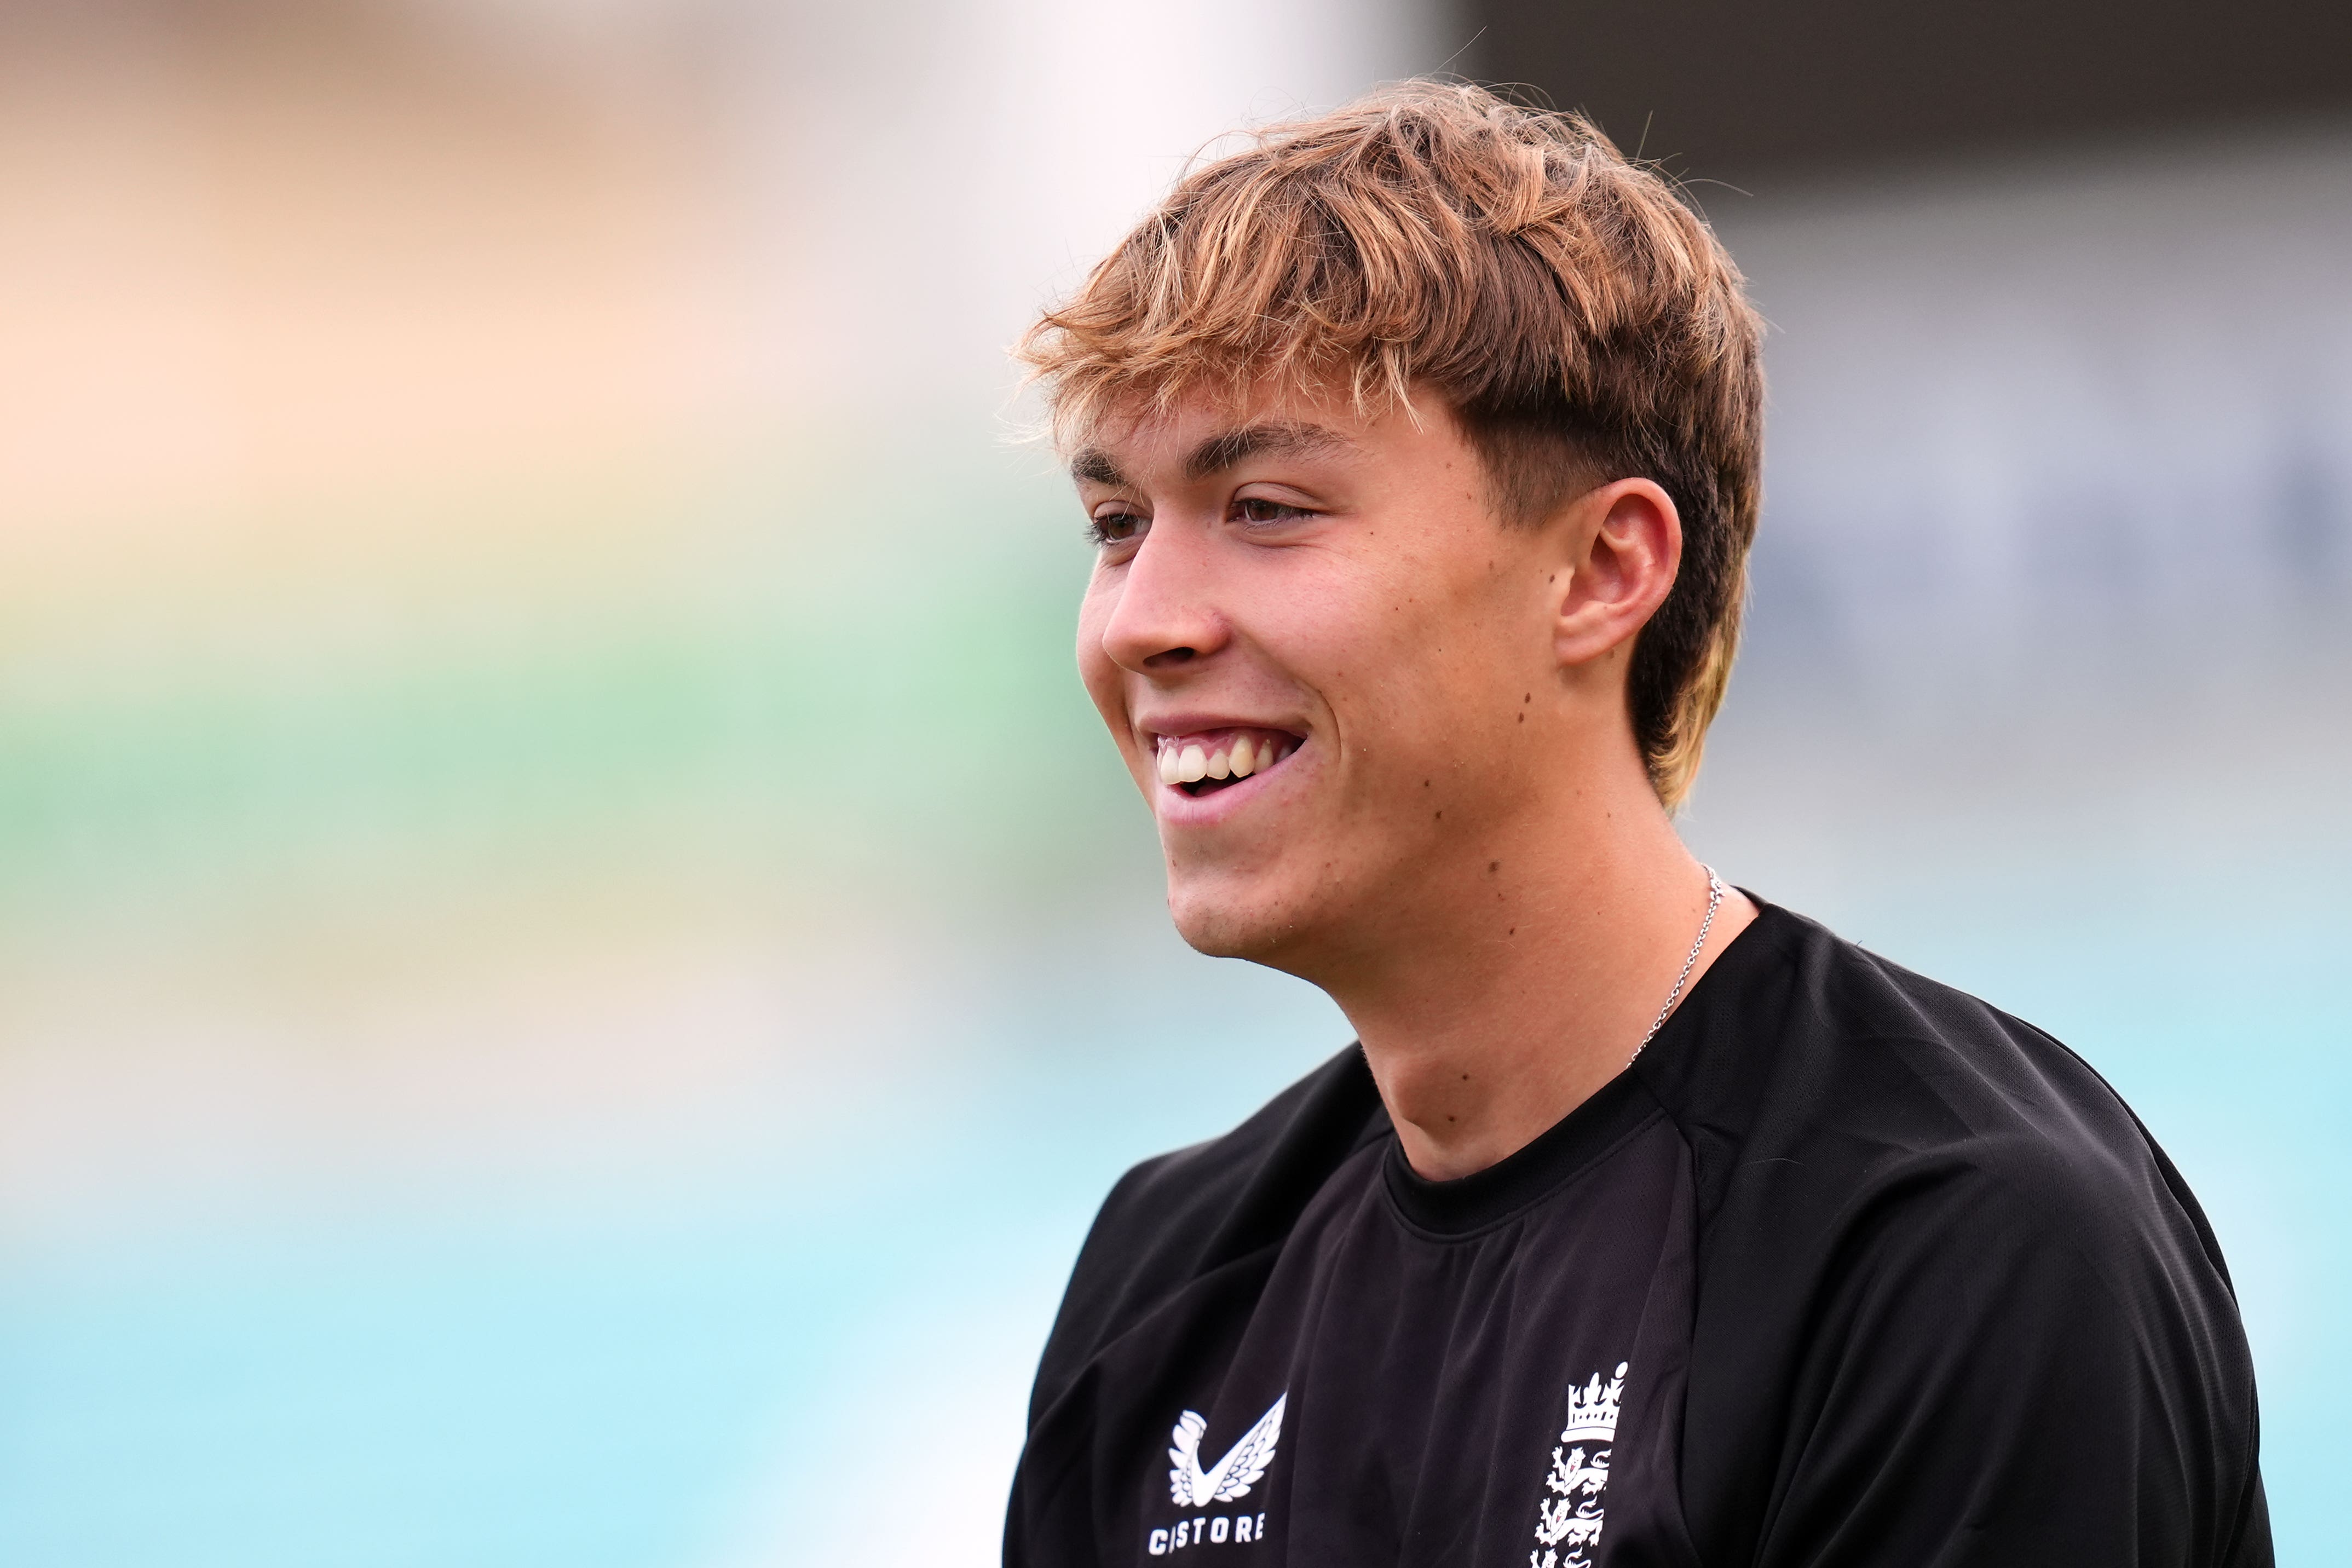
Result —
<svg viewBox="0 0 2352 1568"><path fill-rule="evenodd" d="M1065 447L1277 378L1364 411L1435 393L1510 524L1653 480L1682 567L1635 642L1628 708L1672 809L1738 646L1759 339L1712 230L1588 120L1414 80L1192 169L1018 353Z"/></svg>

